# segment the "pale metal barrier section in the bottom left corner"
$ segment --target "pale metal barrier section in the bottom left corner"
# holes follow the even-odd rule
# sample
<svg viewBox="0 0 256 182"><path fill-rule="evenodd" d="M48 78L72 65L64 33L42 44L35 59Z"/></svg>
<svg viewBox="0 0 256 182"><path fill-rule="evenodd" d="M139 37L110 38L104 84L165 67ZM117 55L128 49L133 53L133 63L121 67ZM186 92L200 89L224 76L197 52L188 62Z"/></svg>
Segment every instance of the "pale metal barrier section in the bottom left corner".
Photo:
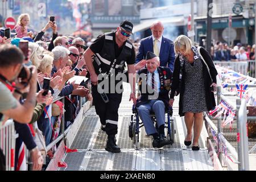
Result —
<svg viewBox="0 0 256 182"><path fill-rule="evenodd" d="M6 158L6 171L14 171L15 142L18 134L14 129L13 119L0 126L0 148Z"/></svg>

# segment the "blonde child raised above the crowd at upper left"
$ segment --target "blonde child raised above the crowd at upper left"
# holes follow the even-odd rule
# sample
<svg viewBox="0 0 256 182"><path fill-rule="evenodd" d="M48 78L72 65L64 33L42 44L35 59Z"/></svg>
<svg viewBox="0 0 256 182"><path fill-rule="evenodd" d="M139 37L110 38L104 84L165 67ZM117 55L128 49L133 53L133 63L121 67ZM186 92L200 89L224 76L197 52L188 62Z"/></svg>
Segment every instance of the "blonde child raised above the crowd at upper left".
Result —
<svg viewBox="0 0 256 182"><path fill-rule="evenodd" d="M30 15L21 14L18 18L18 23L15 26L17 38L23 38L24 36L30 36L32 38L32 32L27 32L28 23L30 23Z"/></svg>

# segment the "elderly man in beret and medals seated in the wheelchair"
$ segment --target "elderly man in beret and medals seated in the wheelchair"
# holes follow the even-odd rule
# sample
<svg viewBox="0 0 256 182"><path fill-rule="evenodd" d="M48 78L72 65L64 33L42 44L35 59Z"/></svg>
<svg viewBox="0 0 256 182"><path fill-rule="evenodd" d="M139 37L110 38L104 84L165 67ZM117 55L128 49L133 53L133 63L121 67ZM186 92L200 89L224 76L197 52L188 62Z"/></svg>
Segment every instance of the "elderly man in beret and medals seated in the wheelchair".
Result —
<svg viewBox="0 0 256 182"><path fill-rule="evenodd" d="M139 117L144 124L147 135L152 135L153 147L163 147L171 144L164 135L165 108L169 107L172 73L168 67L159 67L159 57L152 52L146 55L147 68L139 70L139 90L141 96L137 100L136 107ZM151 121L150 111L154 111L159 133Z"/></svg>

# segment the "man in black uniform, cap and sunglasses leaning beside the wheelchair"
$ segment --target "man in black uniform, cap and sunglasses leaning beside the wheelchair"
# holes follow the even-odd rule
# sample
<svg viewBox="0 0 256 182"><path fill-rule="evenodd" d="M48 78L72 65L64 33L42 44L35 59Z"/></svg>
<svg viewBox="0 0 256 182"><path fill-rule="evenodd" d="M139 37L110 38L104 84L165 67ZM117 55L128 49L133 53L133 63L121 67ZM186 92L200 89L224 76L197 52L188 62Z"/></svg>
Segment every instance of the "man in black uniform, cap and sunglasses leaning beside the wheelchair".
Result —
<svg viewBox="0 0 256 182"><path fill-rule="evenodd" d="M133 100L134 103L136 102L135 51L131 42L127 40L131 36L132 31L133 24L129 20L124 20L115 32L98 36L84 53L92 82L93 103L96 113L100 117L101 129L106 131L108 135L105 149L110 152L121 152L115 143L115 134L117 134L118 108L122 100L122 81L121 86L119 86L121 88L120 92L120 89L116 89L118 88L120 79L118 80L116 77L117 74L123 74L125 62L127 64L127 73L129 73L129 82L132 90L130 101ZM101 80L102 76L104 79ZM105 84L102 84L103 81L105 81ZM104 92L102 93L102 90L99 88L104 89Z"/></svg>

